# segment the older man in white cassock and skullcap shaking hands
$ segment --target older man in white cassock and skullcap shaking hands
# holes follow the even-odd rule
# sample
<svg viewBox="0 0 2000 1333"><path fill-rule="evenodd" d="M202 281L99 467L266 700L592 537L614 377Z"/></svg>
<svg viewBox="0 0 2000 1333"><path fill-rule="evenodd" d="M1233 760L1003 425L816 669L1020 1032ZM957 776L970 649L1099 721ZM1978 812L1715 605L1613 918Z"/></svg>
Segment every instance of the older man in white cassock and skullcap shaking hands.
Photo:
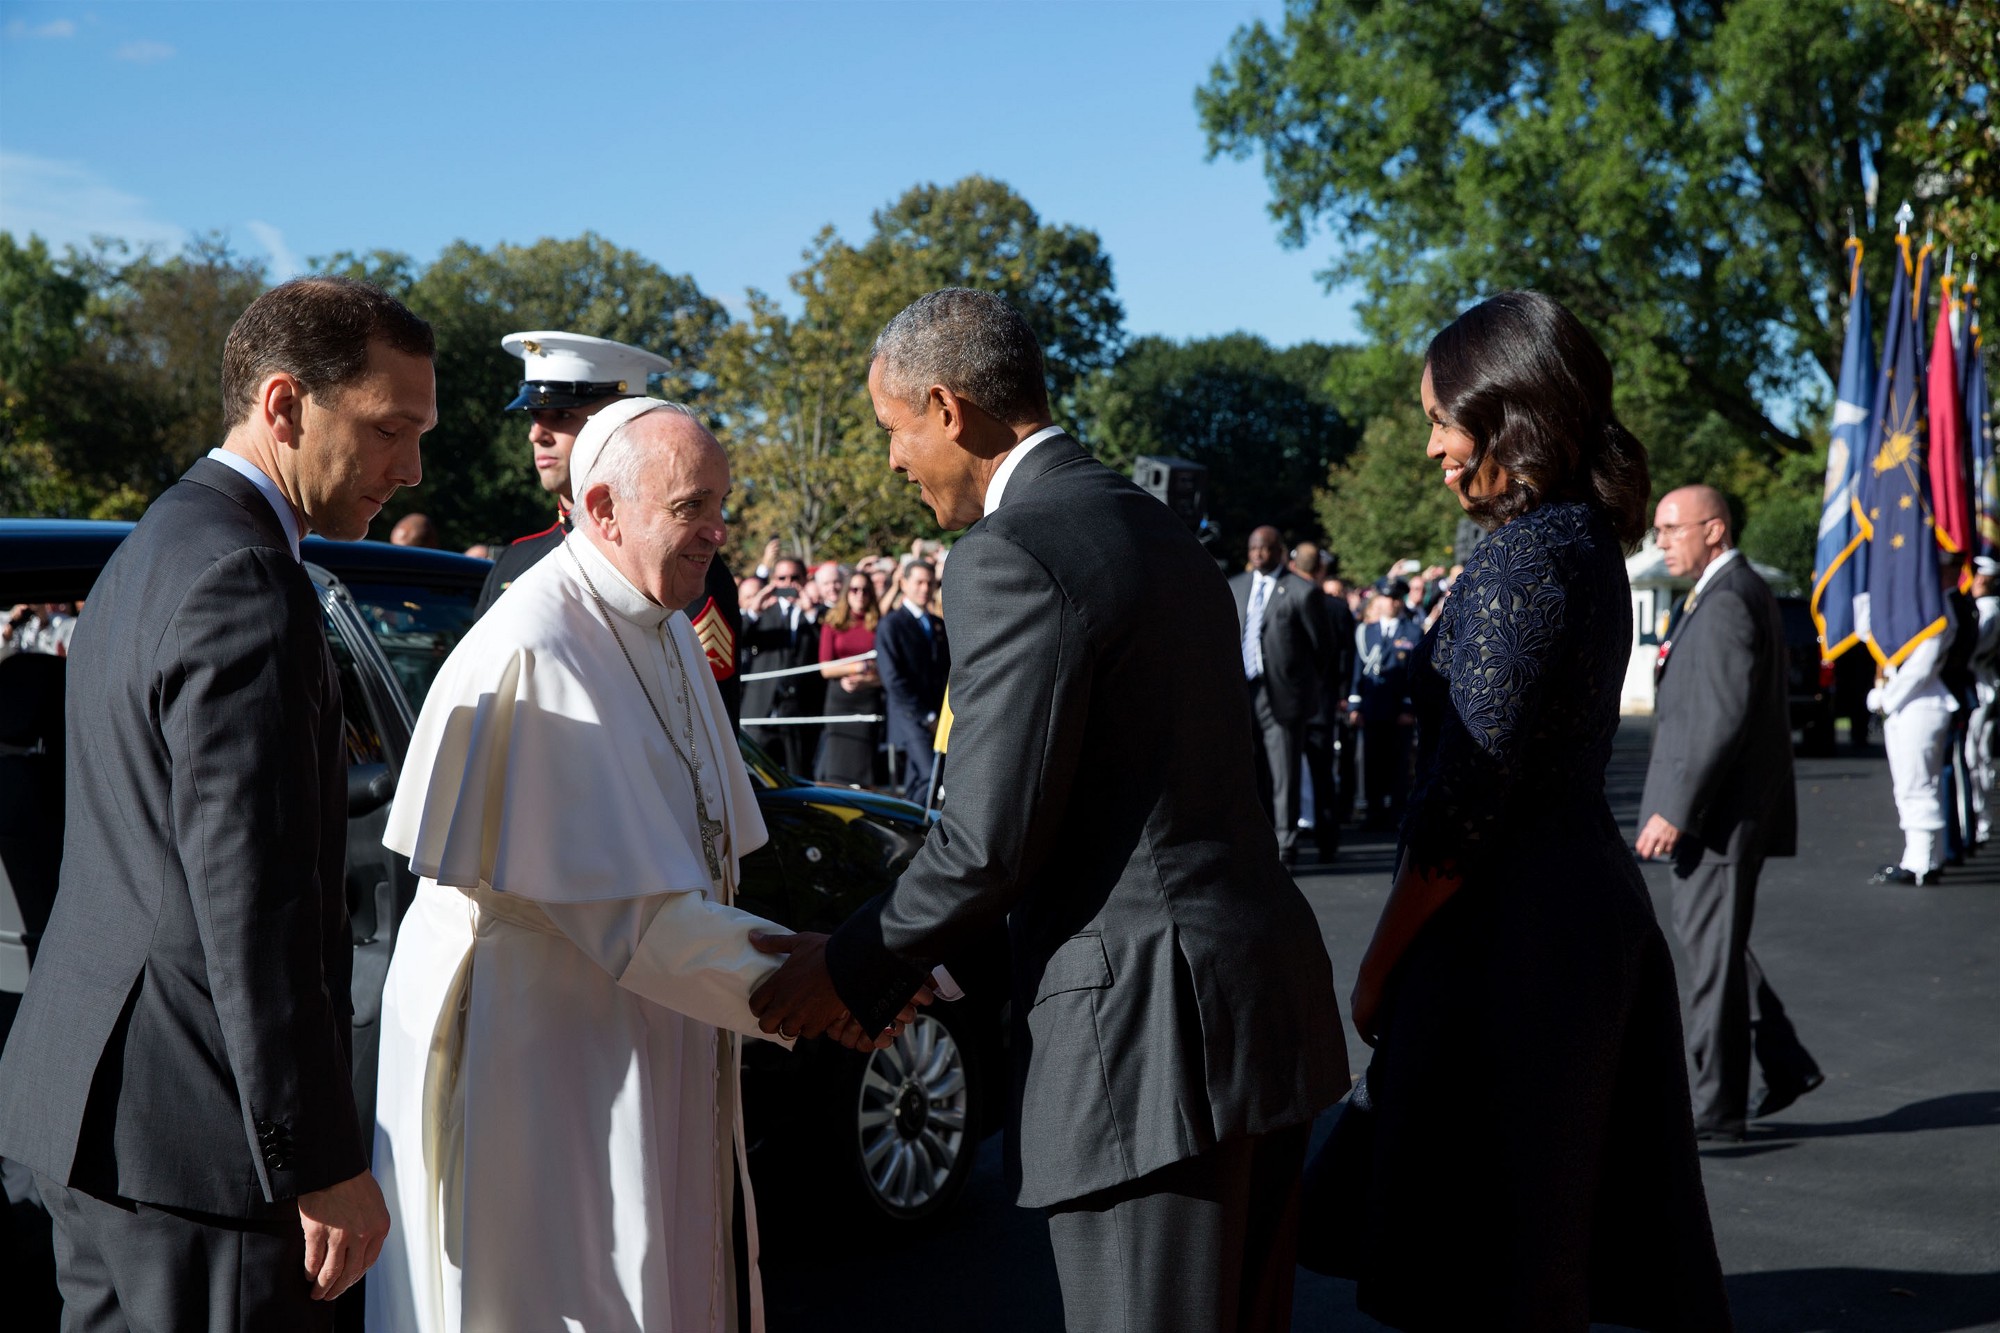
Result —
<svg viewBox="0 0 2000 1333"><path fill-rule="evenodd" d="M736 1071L780 963L748 937L782 929L732 907L764 821L668 610L724 538L728 460L628 398L570 476L576 530L444 664L384 839L422 887L382 997L376 1333L762 1329Z"/></svg>

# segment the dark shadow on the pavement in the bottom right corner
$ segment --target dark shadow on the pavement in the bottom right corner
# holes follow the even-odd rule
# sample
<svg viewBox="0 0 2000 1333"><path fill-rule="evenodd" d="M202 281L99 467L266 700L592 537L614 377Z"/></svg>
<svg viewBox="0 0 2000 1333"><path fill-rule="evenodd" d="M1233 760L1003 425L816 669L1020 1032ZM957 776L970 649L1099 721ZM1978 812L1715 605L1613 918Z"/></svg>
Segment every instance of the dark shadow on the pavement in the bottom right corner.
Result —
<svg viewBox="0 0 2000 1333"><path fill-rule="evenodd" d="M1956 1333L2000 1321L2000 1273L1780 1269L1724 1283L1736 1333Z"/></svg>

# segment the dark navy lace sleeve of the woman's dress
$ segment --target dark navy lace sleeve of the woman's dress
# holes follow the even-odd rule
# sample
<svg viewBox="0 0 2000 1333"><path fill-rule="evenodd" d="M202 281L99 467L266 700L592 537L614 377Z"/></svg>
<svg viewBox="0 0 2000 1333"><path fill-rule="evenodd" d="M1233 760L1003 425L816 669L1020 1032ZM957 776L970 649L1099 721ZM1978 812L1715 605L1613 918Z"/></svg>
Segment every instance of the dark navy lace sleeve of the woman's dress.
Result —
<svg viewBox="0 0 2000 1333"><path fill-rule="evenodd" d="M1494 534L1460 574L1432 646L1450 707L1438 711L1438 743L1404 823L1418 869L1462 873L1492 845L1564 620L1564 586L1536 534Z"/></svg>

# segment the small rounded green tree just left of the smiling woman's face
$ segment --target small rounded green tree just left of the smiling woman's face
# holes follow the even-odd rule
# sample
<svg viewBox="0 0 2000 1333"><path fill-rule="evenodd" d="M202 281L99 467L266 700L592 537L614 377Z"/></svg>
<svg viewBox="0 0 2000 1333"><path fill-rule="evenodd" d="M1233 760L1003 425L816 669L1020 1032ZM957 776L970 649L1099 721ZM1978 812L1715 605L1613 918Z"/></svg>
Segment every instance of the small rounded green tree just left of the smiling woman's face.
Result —
<svg viewBox="0 0 2000 1333"><path fill-rule="evenodd" d="M1416 404L1376 416L1354 456L1336 464L1314 496L1326 550L1348 578L1380 578L1402 558L1452 562L1464 512L1424 458L1430 422Z"/></svg>

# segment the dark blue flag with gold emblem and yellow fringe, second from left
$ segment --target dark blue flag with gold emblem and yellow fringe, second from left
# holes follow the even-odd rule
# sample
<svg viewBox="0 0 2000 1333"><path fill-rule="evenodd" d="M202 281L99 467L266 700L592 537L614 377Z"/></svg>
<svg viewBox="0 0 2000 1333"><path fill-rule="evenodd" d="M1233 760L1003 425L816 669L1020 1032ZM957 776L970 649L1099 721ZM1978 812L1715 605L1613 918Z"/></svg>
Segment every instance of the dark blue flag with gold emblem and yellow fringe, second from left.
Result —
<svg viewBox="0 0 2000 1333"><path fill-rule="evenodd" d="M1876 378L1864 482L1868 582L1862 632L1868 652L1896 666L1916 644L1942 634L1944 588L1938 582L1938 538L1930 516L1930 472L1924 456L1928 408L1924 402L1922 334L1910 280L1910 244L1898 238L1902 264L1888 298L1882 330L1882 374Z"/></svg>

